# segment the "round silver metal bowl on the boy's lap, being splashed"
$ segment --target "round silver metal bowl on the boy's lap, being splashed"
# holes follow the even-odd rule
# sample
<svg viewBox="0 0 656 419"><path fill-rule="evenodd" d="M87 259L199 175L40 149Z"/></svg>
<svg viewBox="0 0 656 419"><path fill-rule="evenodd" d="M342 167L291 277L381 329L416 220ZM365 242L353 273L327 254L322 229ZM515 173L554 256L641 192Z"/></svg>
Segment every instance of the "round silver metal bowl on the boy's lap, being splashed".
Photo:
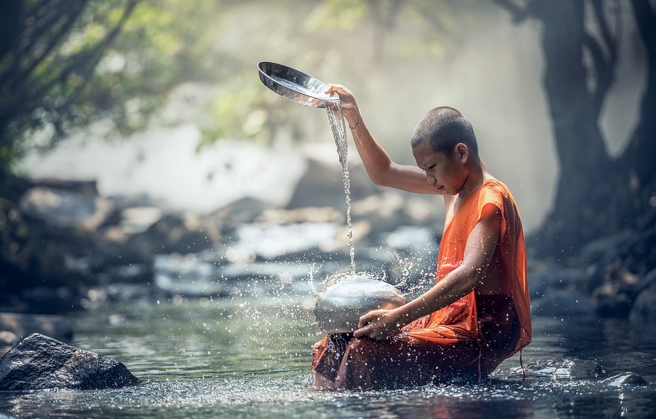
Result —
<svg viewBox="0 0 656 419"><path fill-rule="evenodd" d="M314 316L325 334L350 333L357 329L363 314L374 309L393 309L405 302L394 285L366 273L349 274L319 294Z"/></svg>

